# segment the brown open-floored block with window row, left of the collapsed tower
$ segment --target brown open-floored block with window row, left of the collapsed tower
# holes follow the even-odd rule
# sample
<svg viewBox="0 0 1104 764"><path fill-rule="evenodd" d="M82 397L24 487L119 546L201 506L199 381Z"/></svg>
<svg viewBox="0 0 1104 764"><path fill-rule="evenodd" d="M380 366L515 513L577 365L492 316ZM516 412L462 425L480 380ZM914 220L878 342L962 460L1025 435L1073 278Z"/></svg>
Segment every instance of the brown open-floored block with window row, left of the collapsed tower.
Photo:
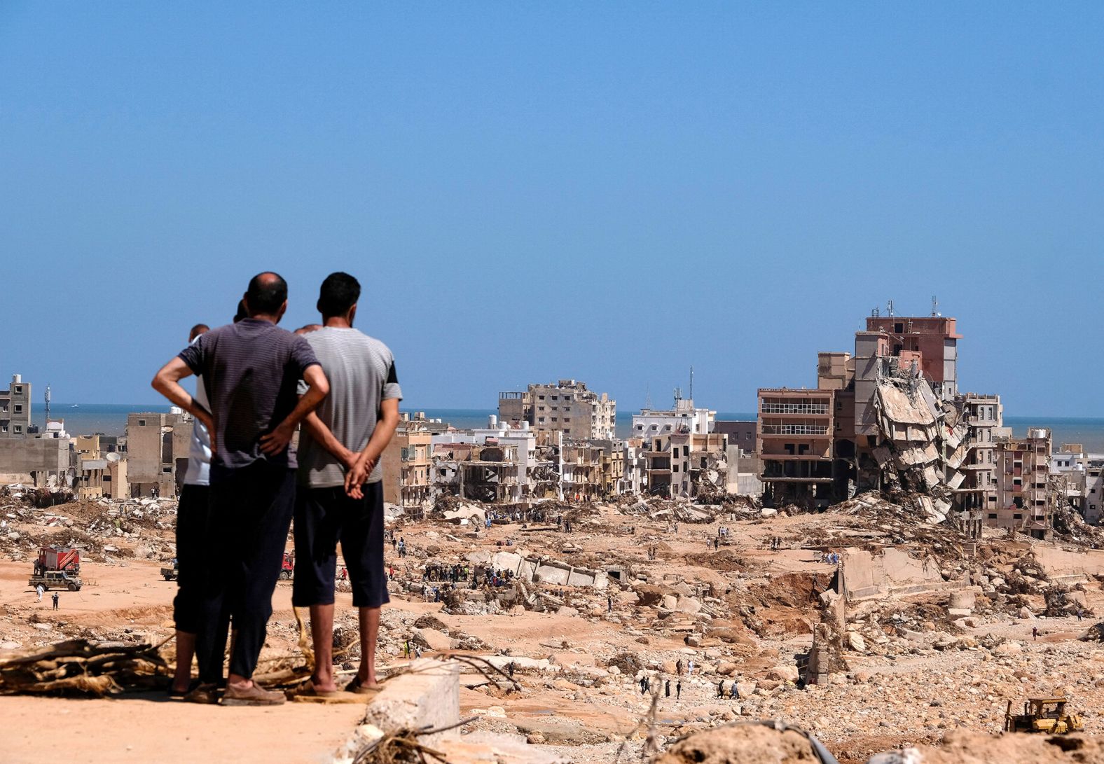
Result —
<svg viewBox="0 0 1104 764"><path fill-rule="evenodd" d="M760 479L776 503L834 498L835 396L834 390L760 389Z"/></svg>

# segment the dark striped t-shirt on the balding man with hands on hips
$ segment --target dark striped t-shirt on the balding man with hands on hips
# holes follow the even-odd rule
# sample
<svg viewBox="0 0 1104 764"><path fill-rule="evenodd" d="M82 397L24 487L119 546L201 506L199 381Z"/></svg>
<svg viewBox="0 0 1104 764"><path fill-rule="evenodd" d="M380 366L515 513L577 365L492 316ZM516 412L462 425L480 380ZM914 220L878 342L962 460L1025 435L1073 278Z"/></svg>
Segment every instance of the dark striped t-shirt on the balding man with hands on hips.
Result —
<svg viewBox="0 0 1104 764"><path fill-rule="evenodd" d="M272 321L245 318L201 335L180 353L199 374L214 416L211 482L258 459L296 467L290 447L268 456L261 436L272 432L299 402L298 382L318 363L307 341Z"/></svg>

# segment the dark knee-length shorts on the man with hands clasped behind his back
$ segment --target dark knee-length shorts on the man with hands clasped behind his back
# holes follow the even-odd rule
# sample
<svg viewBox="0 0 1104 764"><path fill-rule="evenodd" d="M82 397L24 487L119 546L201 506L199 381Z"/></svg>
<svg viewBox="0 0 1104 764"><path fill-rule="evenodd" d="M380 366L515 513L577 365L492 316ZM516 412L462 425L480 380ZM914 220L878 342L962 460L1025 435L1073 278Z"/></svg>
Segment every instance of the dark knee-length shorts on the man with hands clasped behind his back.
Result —
<svg viewBox="0 0 1104 764"><path fill-rule="evenodd" d="M350 499L343 487L299 487L295 500L296 607L333 604L337 545L349 570L354 607L391 602L383 573L383 484L364 485L363 499Z"/></svg>

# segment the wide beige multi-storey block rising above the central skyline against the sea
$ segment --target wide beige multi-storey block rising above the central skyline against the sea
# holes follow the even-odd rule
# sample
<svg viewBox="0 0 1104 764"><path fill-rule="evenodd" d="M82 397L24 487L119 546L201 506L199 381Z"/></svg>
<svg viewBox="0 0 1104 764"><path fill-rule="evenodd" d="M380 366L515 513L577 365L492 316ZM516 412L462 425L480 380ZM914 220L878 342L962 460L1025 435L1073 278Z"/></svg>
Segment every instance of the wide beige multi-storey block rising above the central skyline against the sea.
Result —
<svg viewBox="0 0 1104 764"><path fill-rule="evenodd" d="M499 393L498 407L506 423L529 422L534 429L558 432L573 441L613 438L617 426L616 401L606 393L587 390L586 383L576 380Z"/></svg>

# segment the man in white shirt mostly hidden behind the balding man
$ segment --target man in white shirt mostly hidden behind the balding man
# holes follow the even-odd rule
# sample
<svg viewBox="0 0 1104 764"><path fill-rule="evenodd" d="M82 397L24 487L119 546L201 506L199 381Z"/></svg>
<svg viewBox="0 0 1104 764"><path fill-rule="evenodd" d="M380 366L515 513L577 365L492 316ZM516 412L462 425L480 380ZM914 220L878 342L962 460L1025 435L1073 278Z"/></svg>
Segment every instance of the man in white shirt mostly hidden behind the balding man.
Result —
<svg viewBox="0 0 1104 764"><path fill-rule="evenodd" d="M188 332L188 343L194 344L211 330L197 323ZM203 378L195 378L195 402L208 411ZM200 630L203 611L203 532L211 498L211 433L199 420L192 426L188 447L188 471L177 506L177 596L172 599L172 620L177 627L177 671L169 686L169 696L183 698L192 689L192 658L195 635Z"/></svg>

